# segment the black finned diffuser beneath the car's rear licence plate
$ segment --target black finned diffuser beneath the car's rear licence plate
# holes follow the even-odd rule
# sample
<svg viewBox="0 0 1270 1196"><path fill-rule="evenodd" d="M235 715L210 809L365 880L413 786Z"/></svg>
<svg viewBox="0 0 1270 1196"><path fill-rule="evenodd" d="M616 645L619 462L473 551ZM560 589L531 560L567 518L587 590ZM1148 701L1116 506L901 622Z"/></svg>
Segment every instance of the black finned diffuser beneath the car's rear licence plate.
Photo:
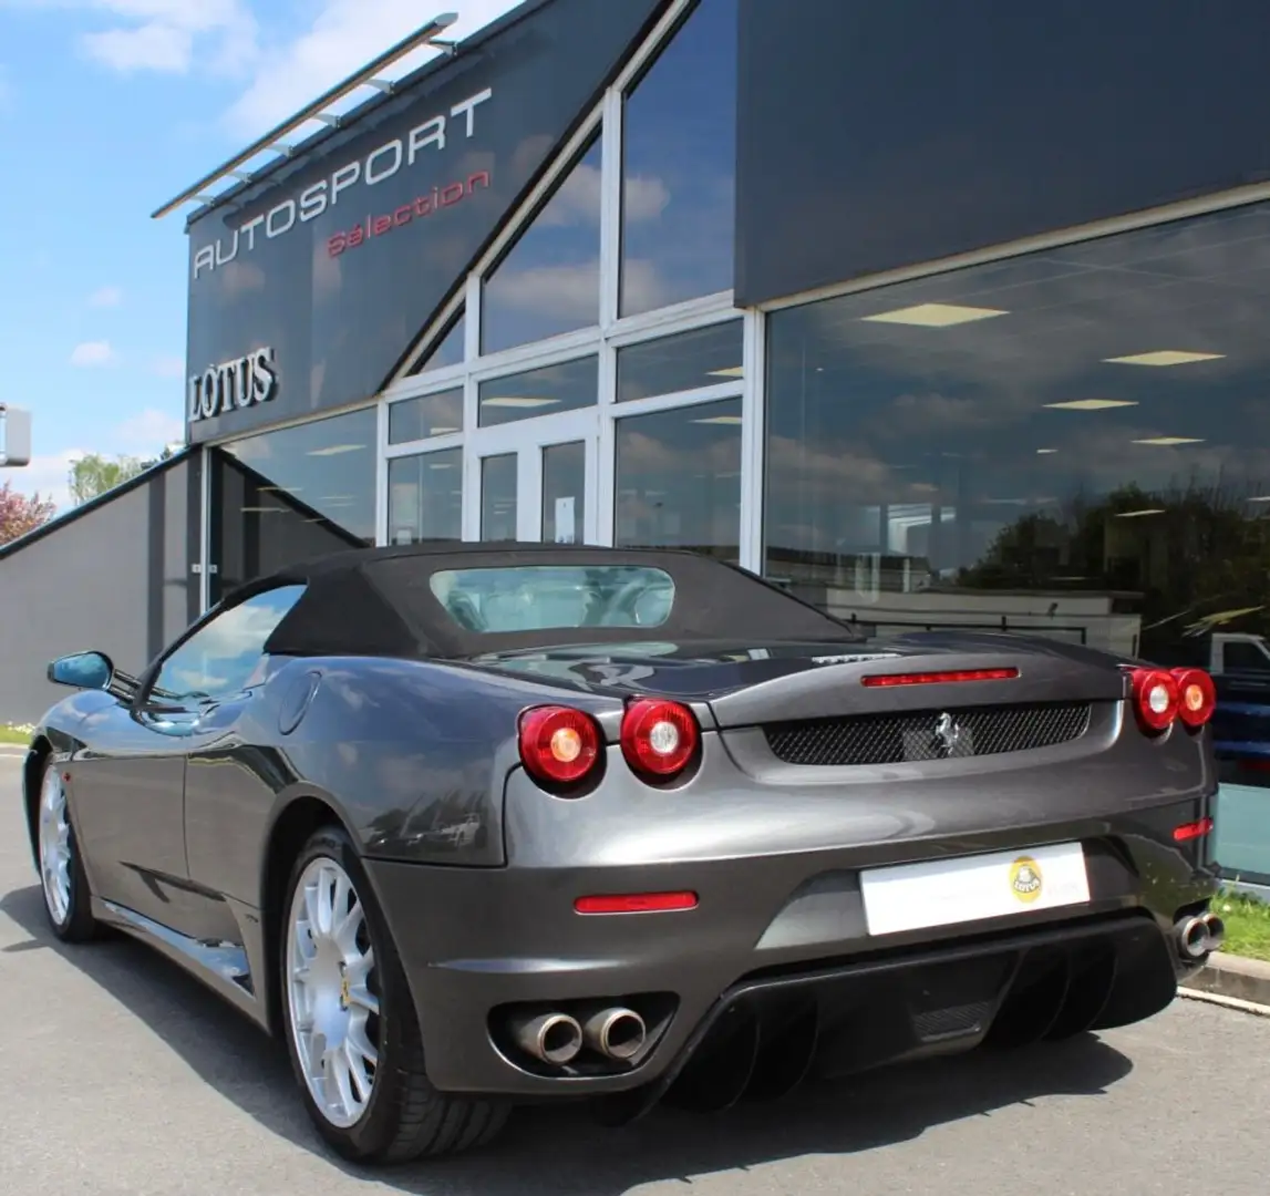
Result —
<svg viewBox="0 0 1270 1196"><path fill-rule="evenodd" d="M1143 913L758 974L723 993L662 1074L601 1108L613 1122L667 1096L720 1110L784 1096L809 1074L1128 1025L1163 1009L1177 978Z"/></svg>

